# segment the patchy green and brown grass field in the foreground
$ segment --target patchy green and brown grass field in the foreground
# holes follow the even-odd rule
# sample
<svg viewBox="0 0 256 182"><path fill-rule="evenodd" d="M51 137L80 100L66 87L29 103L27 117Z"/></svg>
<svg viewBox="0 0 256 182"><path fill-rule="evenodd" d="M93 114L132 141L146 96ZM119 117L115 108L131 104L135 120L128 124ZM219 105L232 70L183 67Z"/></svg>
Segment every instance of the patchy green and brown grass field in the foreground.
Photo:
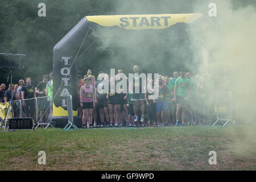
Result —
<svg viewBox="0 0 256 182"><path fill-rule="evenodd" d="M0 170L255 170L256 126L0 132ZM46 152L46 165L38 152ZM209 165L209 151L217 165Z"/></svg>

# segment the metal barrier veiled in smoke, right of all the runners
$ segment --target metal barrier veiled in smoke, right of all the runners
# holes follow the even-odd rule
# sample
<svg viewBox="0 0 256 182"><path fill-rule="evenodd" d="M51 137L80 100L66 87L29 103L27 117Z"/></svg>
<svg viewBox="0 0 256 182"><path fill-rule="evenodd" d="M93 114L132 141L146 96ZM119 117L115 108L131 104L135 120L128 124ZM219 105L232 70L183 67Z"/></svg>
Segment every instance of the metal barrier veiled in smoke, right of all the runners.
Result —
<svg viewBox="0 0 256 182"><path fill-rule="evenodd" d="M232 119L232 93L228 91L215 92L214 107L217 121L212 126L216 125L219 121L223 126L226 126Z"/></svg>

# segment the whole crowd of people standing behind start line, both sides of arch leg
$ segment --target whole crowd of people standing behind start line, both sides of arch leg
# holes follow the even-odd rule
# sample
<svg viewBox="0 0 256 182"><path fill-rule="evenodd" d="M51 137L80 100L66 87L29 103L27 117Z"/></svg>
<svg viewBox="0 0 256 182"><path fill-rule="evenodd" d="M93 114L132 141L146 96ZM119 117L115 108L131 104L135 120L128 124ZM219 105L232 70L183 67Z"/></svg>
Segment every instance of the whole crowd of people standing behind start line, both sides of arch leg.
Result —
<svg viewBox="0 0 256 182"><path fill-rule="evenodd" d="M209 77L202 75L192 76L185 69L175 71L172 77L159 75L157 79L147 78L146 88L143 87L139 77L139 67L133 67L133 81L127 77L127 85L124 87L119 82L123 71L118 70L115 77L110 77L104 72L98 73L96 79L90 69L82 77L78 75L77 92L79 117L82 119L82 127L146 127L146 126L186 126L209 125L210 115L214 108L212 91L213 82ZM136 76L136 73L138 75ZM108 82L109 90L102 92ZM48 81L49 80L49 81ZM119 85L119 90L113 85ZM139 85L137 85L139 83ZM138 86L138 90L136 90ZM126 90L123 90L123 87ZM1 84L0 101L11 100L11 85L5 90L5 84ZM113 89L114 88L114 89ZM154 90L158 89L158 97L154 98ZM143 89L146 92L143 92ZM13 99L25 100L34 97L51 96L53 98L53 74L44 75L36 87L31 85L31 78L19 80L13 84ZM45 103L44 103L45 102ZM46 111L49 98L40 101L40 115ZM42 105L44 110L42 110ZM34 101L24 102L24 112L32 116ZM27 108L26 108L27 107ZM48 111L49 113L49 111ZM47 114L49 115L49 114ZM49 117L46 117L46 120Z"/></svg>

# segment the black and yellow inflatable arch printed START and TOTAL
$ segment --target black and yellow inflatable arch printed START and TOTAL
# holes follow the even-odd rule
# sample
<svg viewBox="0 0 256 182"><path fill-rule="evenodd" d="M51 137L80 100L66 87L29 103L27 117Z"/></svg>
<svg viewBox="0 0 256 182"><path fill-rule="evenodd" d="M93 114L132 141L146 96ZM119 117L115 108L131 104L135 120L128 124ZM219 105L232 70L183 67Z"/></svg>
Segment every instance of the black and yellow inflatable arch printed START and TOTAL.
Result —
<svg viewBox="0 0 256 182"><path fill-rule="evenodd" d="M53 48L53 121L64 127L68 122L66 96L72 95L73 116L77 117L77 51L91 27L118 27L126 30L166 29L177 23L192 23L203 14L102 15L85 16ZM63 125L57 123L63 122ZM77 123L76 123L77 122Z"/></svg>

